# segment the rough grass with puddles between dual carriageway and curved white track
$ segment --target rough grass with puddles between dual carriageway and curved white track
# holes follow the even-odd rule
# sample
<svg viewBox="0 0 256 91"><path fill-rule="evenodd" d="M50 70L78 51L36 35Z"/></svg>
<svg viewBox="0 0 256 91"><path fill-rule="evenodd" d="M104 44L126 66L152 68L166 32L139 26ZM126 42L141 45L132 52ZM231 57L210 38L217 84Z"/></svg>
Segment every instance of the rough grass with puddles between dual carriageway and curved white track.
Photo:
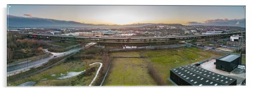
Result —
<svg viewBox="0 0 256 91"><path fill-rule="evenodd" d="M14 82L7 83L8 86L17 86L21 83L25 83L27 81L35 81L37 84L35 86L88 86L91 83L91 80L94 78L96 71L94 71L91 75L87 76L75 76L72 78L67 78L64 80L57 80L56 78L60 77L60 74L65 74L66 72L80 72L82 70L88 70L92 67L98 67L100 65L91 65L89 64L94 62L101 62L100 59L85 59L85 60L77 60L73 62L62 63L57 66L54 66L48 70L40 72L35 75L31 75L28 78L23 78L21 80L16 80ZM85 71L86 72L86 71ZM55 74L56 76L51 76ZM47 79L47 80L42 80Z"/></svg>

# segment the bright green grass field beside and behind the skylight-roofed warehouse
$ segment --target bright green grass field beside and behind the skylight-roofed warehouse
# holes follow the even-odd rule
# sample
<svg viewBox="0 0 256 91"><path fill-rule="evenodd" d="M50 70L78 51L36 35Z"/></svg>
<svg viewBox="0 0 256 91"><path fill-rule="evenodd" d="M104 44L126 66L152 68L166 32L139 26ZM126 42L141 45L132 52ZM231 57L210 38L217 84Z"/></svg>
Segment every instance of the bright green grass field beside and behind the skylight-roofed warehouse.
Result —
<svg viewBox="0 0 256 91"><path fill-rule="evenodd" d="M146 60L154 65L157 71L159 71L159 74L162 75L162 78L166 79L166 83L169 83L169 85L172 85L167 80L168 76L170 75L170 69L223 55L213 54L209 51L204 51L195 47L146 51L144 53L146 53L145 55L149 57L146 58Z"/></svg>

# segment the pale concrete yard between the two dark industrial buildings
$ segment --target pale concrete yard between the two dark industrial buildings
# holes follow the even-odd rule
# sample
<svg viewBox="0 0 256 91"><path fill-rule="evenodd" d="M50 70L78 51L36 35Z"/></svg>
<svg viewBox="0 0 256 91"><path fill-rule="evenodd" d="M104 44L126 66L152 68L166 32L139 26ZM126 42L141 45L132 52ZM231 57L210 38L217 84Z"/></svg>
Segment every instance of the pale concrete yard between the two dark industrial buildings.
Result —
<svg viewBox="0 0 256 91"><path fill-rule="evenodd" d="M206 70L209 70L209 71L221 74L221 75L225 75L230 78L235 78L237 80L236 84L240 84L243 80L245 80L245 70L236 68L232 72L225 72L225 71L216 69L216 65L214 64L214 62L216 62L216 59L212 59L208 62L204 62L203 64L201 64L198 67L202 67Z"/></svg>

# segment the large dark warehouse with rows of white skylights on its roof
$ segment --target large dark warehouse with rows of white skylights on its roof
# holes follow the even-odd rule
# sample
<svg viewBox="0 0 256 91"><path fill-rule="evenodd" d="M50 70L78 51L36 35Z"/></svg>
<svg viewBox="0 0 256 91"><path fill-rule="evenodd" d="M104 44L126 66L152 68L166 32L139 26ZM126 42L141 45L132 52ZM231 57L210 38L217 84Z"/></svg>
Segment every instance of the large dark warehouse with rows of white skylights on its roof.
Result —
<svg viewBox="0 0 256 91"><path fill-rule="evenodd" d="M170 79L179 86L235 86L236 79L205 70L195 65L185 65L170 70Z"/></svg>

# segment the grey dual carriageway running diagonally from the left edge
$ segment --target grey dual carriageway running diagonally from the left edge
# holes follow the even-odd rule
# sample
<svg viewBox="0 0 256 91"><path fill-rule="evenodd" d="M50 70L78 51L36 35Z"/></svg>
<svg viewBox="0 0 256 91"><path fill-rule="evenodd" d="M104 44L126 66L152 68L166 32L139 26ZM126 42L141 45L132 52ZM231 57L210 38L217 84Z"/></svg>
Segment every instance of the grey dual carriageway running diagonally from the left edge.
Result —
<svg viewBox="0 0 256 91"><path fill-rule="evenodd" d="M48 57L43 58L43 59L34 60L34 61L31 61L31 62L28 62L28 63L9 66L9 67L7 67L7 76L9 76L10 74L12 74L14 72L20 72L22 70L27 70L29 68L42 66L43 64L47 63L50 59L67 56L69 54L73 54L73 53L78 52L79 50L81 50L85 47L89 47L89 46L94 45L94 44L96 44L96 43L88 43L87 45L85 45L83 47L74 48L74 49L71 49L71 50L63 52L63 53L51 53L51 54L54 54L56 57L54 57L54 55L52 55L52 56L48 56Z"/></svg>

